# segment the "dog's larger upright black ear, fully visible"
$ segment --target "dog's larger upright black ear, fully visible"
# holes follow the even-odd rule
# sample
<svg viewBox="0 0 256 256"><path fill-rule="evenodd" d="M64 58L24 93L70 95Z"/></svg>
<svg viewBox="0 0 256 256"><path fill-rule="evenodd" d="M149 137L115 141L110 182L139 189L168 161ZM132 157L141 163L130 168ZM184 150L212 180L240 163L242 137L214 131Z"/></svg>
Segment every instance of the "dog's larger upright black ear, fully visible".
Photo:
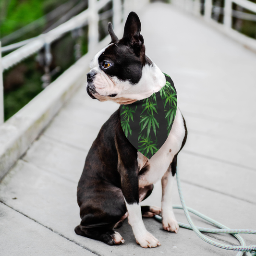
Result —
<svg viewBox="0 0 256 256"><path fill-rule="evenodd" d="M124 25L122 39L131 45L135 54L140 54L144 44L144 39L140 31L141 23L138 15L135 12L130 12Z"/></svg>

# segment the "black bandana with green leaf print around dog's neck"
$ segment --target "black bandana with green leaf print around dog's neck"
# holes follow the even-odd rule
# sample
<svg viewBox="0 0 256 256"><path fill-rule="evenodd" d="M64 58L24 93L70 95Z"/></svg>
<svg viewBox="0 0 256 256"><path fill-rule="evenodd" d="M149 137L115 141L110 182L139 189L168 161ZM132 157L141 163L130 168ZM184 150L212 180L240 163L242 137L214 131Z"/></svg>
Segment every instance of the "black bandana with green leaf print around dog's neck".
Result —
<svg viewBox="0 0 256 256"><path fill-rule="evenodd" d="M177 95L171 77L150 97L122 105L122 130L131 144L145 157L151 158L165 143L177 110Z"/></svg>

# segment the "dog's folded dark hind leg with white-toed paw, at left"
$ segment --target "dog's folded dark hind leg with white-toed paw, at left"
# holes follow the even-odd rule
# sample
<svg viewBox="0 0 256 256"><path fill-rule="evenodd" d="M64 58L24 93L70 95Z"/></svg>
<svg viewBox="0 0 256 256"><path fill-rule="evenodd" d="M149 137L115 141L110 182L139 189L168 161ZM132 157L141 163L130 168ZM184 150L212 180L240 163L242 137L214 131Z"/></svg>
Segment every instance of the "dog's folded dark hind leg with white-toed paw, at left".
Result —
<svg viewBox="0 0 256 256"><path fill-rule="evenodd" d="M109 245L124 242L122 236L113 230L126 213L126 206L120 188L101 183L101 187L78 190L81 223L74 231L78 235L102 241Z"/></svg>

